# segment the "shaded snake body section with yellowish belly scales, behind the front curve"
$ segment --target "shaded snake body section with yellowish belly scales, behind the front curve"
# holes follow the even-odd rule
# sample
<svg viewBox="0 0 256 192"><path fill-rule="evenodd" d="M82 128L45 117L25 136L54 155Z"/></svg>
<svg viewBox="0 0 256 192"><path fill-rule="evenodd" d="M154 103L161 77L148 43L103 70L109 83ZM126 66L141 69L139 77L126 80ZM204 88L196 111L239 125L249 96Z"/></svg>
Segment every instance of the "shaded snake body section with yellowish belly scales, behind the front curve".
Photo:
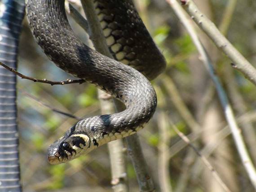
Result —
<svg viewBox="0 0 256 192"><path fill-rule="evenodd" d="M165 59L141 21L132 0L94 0L103 34L115 60L140 71L148 79L165 69Z"/></svg>

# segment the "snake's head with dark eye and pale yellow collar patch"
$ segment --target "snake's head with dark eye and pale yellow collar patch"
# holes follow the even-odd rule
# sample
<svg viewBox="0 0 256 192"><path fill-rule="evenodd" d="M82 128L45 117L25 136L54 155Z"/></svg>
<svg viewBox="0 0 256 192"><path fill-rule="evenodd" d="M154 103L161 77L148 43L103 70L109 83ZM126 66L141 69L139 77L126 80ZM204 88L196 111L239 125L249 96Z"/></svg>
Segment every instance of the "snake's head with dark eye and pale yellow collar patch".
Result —
<svg viewBox="0 0 256 192"><path fill-rule="evenodd" d="M48 148L48 161L56 165L90 152L91 140L85 134L63 136Z"/></svg>

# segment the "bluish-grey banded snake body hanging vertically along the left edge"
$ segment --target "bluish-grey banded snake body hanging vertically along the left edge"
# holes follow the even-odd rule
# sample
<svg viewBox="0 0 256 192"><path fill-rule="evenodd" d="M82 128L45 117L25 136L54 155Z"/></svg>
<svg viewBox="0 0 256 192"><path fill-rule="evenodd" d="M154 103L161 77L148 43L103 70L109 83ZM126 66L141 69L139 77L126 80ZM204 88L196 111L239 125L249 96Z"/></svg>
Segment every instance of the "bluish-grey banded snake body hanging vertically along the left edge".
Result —
<svg viewBox="0 0 256 192"><path fill-rule="evenodd" d="M0 61L16 69L25 2L0 4ZM0 192L22 191L18 157L16 75L0 67Z"/></svg>

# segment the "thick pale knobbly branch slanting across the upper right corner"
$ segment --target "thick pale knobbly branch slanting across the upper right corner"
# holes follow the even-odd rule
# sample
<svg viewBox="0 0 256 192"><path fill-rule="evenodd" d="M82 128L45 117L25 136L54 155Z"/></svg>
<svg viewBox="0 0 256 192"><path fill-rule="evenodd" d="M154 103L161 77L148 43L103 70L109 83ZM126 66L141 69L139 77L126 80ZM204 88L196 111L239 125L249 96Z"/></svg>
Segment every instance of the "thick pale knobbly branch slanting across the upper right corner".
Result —
<svg viewBox="0 0 256 192"><path fill-rule="evenodd" d="M175 0L167 0L168 3L173 4ZM230 60L231 65L239 70L243 75L256 85L256 69L243 55L238 52L236 48L221 34L215 24L209 20L194 4L193 0L179 0L187 13L191 16L194 22L205 32L205 34L212 39L217 48L221 49Z"/></svg>

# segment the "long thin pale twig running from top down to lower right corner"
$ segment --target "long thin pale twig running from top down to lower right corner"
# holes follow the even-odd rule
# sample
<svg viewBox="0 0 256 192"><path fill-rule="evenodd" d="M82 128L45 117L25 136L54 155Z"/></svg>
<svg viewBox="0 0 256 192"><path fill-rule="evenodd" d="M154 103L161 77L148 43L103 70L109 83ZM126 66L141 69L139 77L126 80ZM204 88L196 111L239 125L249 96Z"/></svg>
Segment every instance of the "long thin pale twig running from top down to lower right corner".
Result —
<svg viewBox="0 0 256 192"><path fill-rule="evenodd" d="M252 182L254 188L256 188L256 170L255 170L255 168L252 164L252 161L249 157L249 154L247 153L247 149L246 149L246 146L244 144L243 137L241 135L241 131L238 128L237 122L236 122L235 117L234 117L233 110L230 106L230 103L229 103L229 100L226 96L225 90L222 87L219 78L215 74L215 71L214 71L213 66L212 66L212 61L208 57L205 48L201 44L201 42L200 42L200 40L199 40L195 30L194 30L194 27L191 25L190 21L185 16L184 10L181 8L181 5L177 3L177 0L167 0L167 1L172 6L173 10L177 14L177 16L180 18L181 22L183 23L183 25L187 29L188 33L190 34L196 48L198 49L198 51L200 53L201 60L203 61L203 64L206 66L207 71L210 74L210 76L212 78L212 81L215 84L216 91L217 91L219 99L221 101L221 105L222 105L222 108L223 108L224 113L225 113L226 121L228 122L228 124L230 126L230 129L231 129L236 147L238 149L239 156L240 156L240 158L243 162L243 166L245 167L245 170L247 171L247 174L248 174L249 178L251 179L251 182ZM192 11L192 9L193 9L194 12L195 11L197 12L196 14L194 14L194 13L193 14L196 17L198 17L198 12L200 13L200 11L195 6L194 2L190 1L190 0L183 0L183 2L186 2L185 3L187 5L186 10L189 12L189 10ZM210 22L210 21L206 20L206 17L204 15L199 16L199 17L203 18L203 26L207 26L207 22ZM212 26L212 25L213 24L211 24L210 26ZM220 33L220 32L218 31L218 33ZM227 41L227 40L225 40L225 41ZM232 45L230 44L230 46L232 46ZM256 78L256 75L255 75L255 78Z"/></svg>

